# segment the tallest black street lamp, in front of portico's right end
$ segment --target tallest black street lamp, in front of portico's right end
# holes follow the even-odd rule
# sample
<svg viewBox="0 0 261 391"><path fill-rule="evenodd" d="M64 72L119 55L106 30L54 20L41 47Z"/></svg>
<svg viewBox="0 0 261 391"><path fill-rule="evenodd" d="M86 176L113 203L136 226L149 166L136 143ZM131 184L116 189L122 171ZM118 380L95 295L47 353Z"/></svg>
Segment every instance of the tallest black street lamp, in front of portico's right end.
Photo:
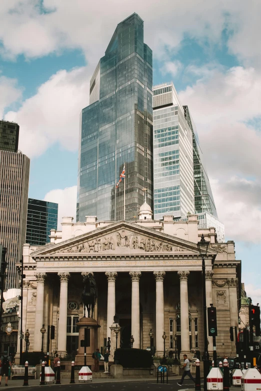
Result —
<svg viewBox="0 0 261 391"><path fill-rule="evenodd" d="M207 350L207 327L206 327L206 298L205 298L205 258L209 242L204 239L202 234L200 242L197 242L199 255L202 259L202 288L203 288L203 322L204 322L204 353L203 353L203 371L204 371L204 391L207 391L206 377L209 372L209 354Z"/></svg>

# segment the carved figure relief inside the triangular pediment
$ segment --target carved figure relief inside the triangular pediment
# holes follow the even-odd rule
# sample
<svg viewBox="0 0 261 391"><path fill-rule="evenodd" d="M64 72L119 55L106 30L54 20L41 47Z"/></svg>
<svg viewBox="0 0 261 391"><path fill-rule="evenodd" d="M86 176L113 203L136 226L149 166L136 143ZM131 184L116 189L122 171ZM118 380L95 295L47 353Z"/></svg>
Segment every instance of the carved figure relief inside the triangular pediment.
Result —
<svg viewBox="0 0 261 391"><path fill-rule="evenodd" d="M114 234L102 238L89 240L74 246L68 246L62 250L62 253L102 253L106 250L115 250L116 248L130 248L131 250L143 250L146 252L172 252L185 251L179 246L172 246L163 243L160 240L136 235L133 232L126 231L124 228Z"/></svg>

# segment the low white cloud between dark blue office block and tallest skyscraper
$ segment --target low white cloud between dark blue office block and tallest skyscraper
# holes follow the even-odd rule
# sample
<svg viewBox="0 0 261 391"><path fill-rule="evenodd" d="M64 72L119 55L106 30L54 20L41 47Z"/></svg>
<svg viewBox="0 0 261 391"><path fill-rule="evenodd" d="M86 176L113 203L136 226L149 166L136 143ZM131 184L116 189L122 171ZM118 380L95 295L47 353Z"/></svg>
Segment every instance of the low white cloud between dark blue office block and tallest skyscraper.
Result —
<svg viewBox="0 0 261 391"><path fill-rule="evenodd" d="M61 229L61 219L65 216L76 217L77 186L65 187L65 189L50 190L44 196L44 201L56 202L58 204L58 226Z"/></svg>

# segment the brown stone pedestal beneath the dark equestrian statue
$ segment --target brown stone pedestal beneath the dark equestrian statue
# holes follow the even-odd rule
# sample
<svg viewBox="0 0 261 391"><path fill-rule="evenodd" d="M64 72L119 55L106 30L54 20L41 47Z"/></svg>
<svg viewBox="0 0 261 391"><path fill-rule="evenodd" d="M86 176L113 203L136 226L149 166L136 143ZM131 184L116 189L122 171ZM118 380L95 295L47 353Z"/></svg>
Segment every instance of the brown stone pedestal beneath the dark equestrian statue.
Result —
<svg viewBox="0 0 261 391"><path fill-rule="evenodd" d="M100 327L97 321L93 318L80 318L76 324L79 329L79 346L78 354L75 356L75 365L84 365L84 348L80 346L80 341L84 340L84 329L89 329L90 346L86 347L86 365L94 369L94 359L92 359L92 353L96 352L97 347L97 329Z"/></svg>

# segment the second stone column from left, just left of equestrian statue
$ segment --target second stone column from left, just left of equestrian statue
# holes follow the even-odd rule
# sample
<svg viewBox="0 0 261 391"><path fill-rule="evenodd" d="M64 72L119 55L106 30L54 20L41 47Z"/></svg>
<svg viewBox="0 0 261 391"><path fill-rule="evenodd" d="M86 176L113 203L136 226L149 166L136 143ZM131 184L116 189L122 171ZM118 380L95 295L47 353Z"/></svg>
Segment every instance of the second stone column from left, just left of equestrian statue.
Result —
<svg viewBox="0 0 261 391"><path fill-rule="evenodd" d="M68 279L70 274L62 272L58 273L58 276L60 278L60 303L57 351L63 356L66 354Z"/></svg>

